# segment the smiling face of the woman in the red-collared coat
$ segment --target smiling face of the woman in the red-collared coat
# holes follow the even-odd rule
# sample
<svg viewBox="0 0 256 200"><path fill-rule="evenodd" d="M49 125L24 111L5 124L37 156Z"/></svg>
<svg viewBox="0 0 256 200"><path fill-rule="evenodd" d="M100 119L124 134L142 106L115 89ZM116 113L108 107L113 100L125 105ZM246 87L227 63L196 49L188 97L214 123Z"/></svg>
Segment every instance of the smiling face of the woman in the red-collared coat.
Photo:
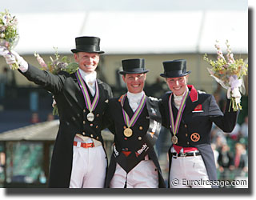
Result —
<svg viewBox="0 0 256 200"><path fill-rule="evenodd" d="M166 78L167 85L176 96L184 94L187 80L188 75L177 78Z"/></svg>

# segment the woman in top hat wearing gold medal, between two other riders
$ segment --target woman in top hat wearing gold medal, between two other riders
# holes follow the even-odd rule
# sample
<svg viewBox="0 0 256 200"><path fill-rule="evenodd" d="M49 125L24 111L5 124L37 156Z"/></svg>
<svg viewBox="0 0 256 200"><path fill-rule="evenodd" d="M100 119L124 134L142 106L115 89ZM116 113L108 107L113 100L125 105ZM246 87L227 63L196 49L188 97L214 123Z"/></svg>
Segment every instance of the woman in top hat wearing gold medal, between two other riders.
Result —
<svg viewBox="0 0 256 200"><path fill-rule="evenodd" d="M165 187L154 143L161 129L158 101L146 97L144 59L122 60L122 79L128 92L112 98L106 118L114 126L114 145L106 187Z"/></svg>

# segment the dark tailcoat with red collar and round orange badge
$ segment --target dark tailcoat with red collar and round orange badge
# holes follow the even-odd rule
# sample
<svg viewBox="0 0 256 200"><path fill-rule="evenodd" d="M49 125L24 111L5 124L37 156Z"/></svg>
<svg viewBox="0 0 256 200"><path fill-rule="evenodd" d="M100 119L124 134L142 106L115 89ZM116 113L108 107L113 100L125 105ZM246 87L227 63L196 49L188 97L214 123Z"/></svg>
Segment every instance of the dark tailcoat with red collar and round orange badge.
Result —
<svg viewBox="0 0 256 200"><path fill-rule="evenodd" d="M210 131L214 122L224 132L231 132L237 122L238 112L232 108L229 110L230 100L227 101L226 111L223 114L219 109L214 96L205 94L194 89L194 86L188 85L190 94L186 98L186 107L182 114L182 121L176 136L178 143L182 147L197 147L202 154L202 159L206 165L206 170L210 180L217 180L216 166L214 162L214 153L210 146ZM166 93L159 103L162 114L162 125L170 129L169 97L170 92ZM172 98L171 106L174 114L174 121L178 114L178 109L174 106ZM172 130L170 129L172 134ZM198 138L194 138L195 134ZM172 134L173 135L173 134ZM170 153L170 150L169 150ZM171 162L171 156L169 155ZM170 169L182 170L182 169Z"/></svg>

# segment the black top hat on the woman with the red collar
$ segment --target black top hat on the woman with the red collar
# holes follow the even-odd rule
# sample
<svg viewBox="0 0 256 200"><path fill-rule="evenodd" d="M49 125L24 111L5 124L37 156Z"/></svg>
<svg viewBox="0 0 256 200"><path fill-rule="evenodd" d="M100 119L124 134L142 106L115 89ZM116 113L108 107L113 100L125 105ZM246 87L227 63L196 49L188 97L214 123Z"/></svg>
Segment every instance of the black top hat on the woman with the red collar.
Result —
<svg viewBox="0 0 256 200"><path fill-rule="evenodd" d="M160 74L160 76L164 78L182 77L191 73L191 71L186 71L185 59L165 61L165 62L162 62L162 64L165 71L163 74Z"/></svg>

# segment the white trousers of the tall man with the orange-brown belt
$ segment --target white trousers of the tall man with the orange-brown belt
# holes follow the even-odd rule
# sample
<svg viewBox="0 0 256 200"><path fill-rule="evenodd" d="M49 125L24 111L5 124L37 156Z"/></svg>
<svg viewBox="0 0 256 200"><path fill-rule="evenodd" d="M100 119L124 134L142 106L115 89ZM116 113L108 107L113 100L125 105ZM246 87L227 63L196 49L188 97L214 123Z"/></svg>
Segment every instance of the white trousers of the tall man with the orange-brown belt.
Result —
<svg viewBox="0 0 256 200"><path fill-rule="evenodd" d="M70 188L103 188L107 159L102 146L73 147Z"/></svg>

